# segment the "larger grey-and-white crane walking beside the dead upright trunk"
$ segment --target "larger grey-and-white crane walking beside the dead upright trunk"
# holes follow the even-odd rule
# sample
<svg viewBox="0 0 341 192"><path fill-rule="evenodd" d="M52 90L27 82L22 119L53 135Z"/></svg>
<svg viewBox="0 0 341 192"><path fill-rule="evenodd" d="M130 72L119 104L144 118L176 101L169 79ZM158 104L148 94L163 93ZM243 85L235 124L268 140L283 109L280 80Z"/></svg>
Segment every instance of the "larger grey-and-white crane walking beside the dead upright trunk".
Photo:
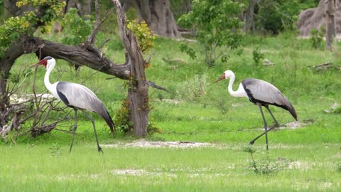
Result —
<svg viewBox="0 0 341 192"><path fill-rule="evenodd" d="M51 92L51 94L57 98L58 100L61 100L67 107L71 107L73 110L75 110L75 125L73 127L73 134L72 134L72 141L70 145L70 152L72 149L73 139L75 137L76 129L77 129L77 110L82 111L87 118L90 119L92 122L92 126L94 127L94 137L96 137L97 142L97 149L99 152L102 152L102 148L99 146L98 139L97 139L97 133L96 128L94 126L94 119L85 112L85 110L88 110L90 112L95 112L97 114L100 114L105 122L110 127L110 130L112 134L114 135L114 122L112 122L112 117L110 117L107 109L104 107L104 104L101 100L97 98L96 95L94 95L94 92L92 92L89 88L73 83L73 82L64 82L64 81L58 81L53 84L50 83L50 73L55 68L55 59L48 56L40 60L35 65L32 65L32 67L43 65L46 68L44 83L45 87Z"/></svg>

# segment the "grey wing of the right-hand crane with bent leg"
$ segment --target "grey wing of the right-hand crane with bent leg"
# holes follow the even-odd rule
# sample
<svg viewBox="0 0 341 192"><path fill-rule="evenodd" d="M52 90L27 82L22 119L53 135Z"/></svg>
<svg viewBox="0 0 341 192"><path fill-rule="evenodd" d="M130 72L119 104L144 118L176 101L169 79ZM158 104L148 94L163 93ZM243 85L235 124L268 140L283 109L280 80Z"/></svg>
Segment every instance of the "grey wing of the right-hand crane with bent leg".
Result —
<svg viewBox="0 0 341 192"><path fill-rule="evenodd" d="M291 105L283 93L271 83L264 80L247 79L243 80L242 85L251 102L282 107L283 109L288 110L293 117L297 119L293 105Z"/></svg>

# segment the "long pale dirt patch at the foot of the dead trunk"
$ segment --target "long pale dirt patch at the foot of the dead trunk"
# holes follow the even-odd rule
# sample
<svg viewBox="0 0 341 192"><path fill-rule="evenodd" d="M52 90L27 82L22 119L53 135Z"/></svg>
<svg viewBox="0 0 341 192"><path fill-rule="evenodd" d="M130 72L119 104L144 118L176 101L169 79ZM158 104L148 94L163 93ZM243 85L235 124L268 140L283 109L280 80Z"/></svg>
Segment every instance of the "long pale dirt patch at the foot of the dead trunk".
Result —
<svg viewBox="0 0 341 192"><path fill-rule="evenodd" d="M146 139L139 139L134 142L118 142L117 144L104 144L103 147L144 147L144 148L161 148L161 147L173 147L173 148L195 148L202 146L214 146L211 143L200 142L150 142Z"/></svg>

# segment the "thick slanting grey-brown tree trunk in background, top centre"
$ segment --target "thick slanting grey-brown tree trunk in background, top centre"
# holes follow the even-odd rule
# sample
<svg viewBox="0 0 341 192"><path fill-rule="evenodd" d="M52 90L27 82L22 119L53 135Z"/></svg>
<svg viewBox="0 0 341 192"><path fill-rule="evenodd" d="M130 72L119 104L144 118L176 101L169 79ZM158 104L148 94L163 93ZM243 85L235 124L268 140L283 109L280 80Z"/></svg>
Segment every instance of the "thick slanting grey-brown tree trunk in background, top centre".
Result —
<svg viewBox="0 0 341 192"><path fill-rule="evenodd" d="M133 6L141 20L146 21L158 36L180 38L169 0L125 0L124 8Z"/></svg>

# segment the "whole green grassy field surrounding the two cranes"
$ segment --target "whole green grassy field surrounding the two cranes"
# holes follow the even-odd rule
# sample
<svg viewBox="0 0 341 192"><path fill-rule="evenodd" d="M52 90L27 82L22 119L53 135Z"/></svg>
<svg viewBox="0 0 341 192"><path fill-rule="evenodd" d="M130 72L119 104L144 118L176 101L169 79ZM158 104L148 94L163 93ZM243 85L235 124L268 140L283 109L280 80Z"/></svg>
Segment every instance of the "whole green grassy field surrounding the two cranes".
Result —
<svg viewBox="0 0 341 192"><path fill-rule="evenodd" d="M117 41L114 38L107 44L105 54L122 63L124 51ZM241 55L227 51L227 63L207 68L201 57L190 60L178 45L158 38L150 54L148 80L169 91L150 89L151 122L162 132L145 139L209 145L126 146L137 138L119 135L113 139L105 122L94 115L104 151L98 154L91 124L80 116L71 154L70 134L60 131L36 139L15 137L13 132L9 136L12 142L0 142L0 191L340 191L341 110L325 112L335 103L341 104L338 51L314 50L308 40L296 39L292 33L276 38L246 36ZM252 51L257 47L275 64L256 65ZM335 48L339 47L337 43ZM185 62L169 63L163 58ZM333 68L311 68L327 62L332 62ZM12 73L21 73L24 66L33 63L36 58L25 55ZM123 80L107 80L109 75L85 67L75 75L62 60L57 60L57 65L51 82L82 82L104 101L113 117L117 115L126 97ZM230 96L227 80L212 83L227 69L236 74L234 89L244 78L269 81L291 100L298 114L298 127L286 127L294 122L293 117L271 107L283 128L269 132L269 151L265 150L264 138L256 141L254 164L247 149L250 140L262 132L261 114L246 98ZM38 69L38 92L46 91L44 74L43 68ZM33 77L27 80L30 92ZM198 93L196 97L193 92ZM267 113L266 119L272 124ZM68 131L72 123L63 122L58 129Z"/></svg>

